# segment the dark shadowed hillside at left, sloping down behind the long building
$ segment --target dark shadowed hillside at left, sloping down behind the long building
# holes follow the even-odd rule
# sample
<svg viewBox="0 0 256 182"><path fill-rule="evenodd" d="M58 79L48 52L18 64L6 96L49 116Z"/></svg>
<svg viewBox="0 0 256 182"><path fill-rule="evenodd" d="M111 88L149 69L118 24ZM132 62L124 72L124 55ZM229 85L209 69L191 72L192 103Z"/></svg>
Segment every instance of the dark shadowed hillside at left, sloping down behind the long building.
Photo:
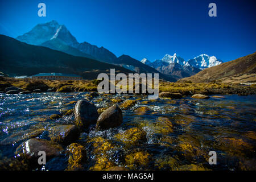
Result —
<svg viewBox="0 0 256 182"><path fill-rule="evenodd" d="M32 46L5 35L0 35L0 68L10 76L59 72L81 75L85 79L95 79L103 72L110 73L111 68L116 72L133 73L117 65Z"/></svg>

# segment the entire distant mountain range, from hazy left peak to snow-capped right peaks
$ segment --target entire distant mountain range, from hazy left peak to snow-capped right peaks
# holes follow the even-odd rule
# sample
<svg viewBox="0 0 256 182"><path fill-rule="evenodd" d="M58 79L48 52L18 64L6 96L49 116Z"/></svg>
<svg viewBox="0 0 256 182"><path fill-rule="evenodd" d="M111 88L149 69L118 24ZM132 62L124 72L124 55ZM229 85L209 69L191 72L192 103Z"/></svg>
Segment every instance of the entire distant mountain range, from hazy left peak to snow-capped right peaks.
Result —
<svg viewBox="0 0 256 182"><path fill-rule="evenodd" d="M62 51L73 56L87 57L90 59L110 63L129 69L137 73L159 73L161 78L176 81L200 72L202 69L221 64L215 56L205 54L185 61L176 53L171 56L166 54L162 59L154 62L146 58L138 61L128 55L117 57L104 47L97 47L88 42L77 42L65 25L52 20L48 23L37 24L31 31L16 38L20 42L34 46L48 47Z"/></svg>

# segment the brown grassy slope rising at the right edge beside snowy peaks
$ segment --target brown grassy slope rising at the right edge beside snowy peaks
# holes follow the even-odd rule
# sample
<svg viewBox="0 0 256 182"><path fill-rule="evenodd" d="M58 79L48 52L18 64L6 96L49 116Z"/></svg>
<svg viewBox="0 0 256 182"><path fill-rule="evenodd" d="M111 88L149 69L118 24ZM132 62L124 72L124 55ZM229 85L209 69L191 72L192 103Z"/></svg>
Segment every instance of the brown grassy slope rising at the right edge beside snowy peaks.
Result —
<svg viewBox="0 0 256 182"><path fill-rule="evenodd" d="M183 78L179 81L220 81L233 84L240 82L256 82L256 52L233 61L222 63L216 67L204 69L196 75Z"/></svg>

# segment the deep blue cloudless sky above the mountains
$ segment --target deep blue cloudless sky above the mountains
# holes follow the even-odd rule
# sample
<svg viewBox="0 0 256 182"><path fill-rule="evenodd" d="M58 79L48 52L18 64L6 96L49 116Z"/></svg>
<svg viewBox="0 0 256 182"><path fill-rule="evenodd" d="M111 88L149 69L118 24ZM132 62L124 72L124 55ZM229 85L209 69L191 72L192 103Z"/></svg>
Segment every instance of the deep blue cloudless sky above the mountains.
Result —
<svg viewBox="0 0 256 182"><path fill-rule="evenodd" d="M38 16L40 2L46 17ZM217 17L208 16L211 2ZM255 7L248 0L10 0L0 2L0 34L16 38L54 19L79 42L117 56L154 61L176 52L188 60L207 53L230 61L256 51Z"/></svg>

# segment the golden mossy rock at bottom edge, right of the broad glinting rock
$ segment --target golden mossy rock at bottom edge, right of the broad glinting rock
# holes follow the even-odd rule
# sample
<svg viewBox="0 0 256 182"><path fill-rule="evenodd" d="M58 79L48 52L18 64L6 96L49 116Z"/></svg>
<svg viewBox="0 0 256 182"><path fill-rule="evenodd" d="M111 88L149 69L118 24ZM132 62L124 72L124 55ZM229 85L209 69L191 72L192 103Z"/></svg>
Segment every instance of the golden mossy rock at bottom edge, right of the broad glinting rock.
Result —
<svg viewBox="0 0 256 182"><path fill-rule="evenodd" d="M86 162L85 147L78 143L72 143L67 147L69 152L68 168L66 171L84 170L82 164Z"/></svg>

